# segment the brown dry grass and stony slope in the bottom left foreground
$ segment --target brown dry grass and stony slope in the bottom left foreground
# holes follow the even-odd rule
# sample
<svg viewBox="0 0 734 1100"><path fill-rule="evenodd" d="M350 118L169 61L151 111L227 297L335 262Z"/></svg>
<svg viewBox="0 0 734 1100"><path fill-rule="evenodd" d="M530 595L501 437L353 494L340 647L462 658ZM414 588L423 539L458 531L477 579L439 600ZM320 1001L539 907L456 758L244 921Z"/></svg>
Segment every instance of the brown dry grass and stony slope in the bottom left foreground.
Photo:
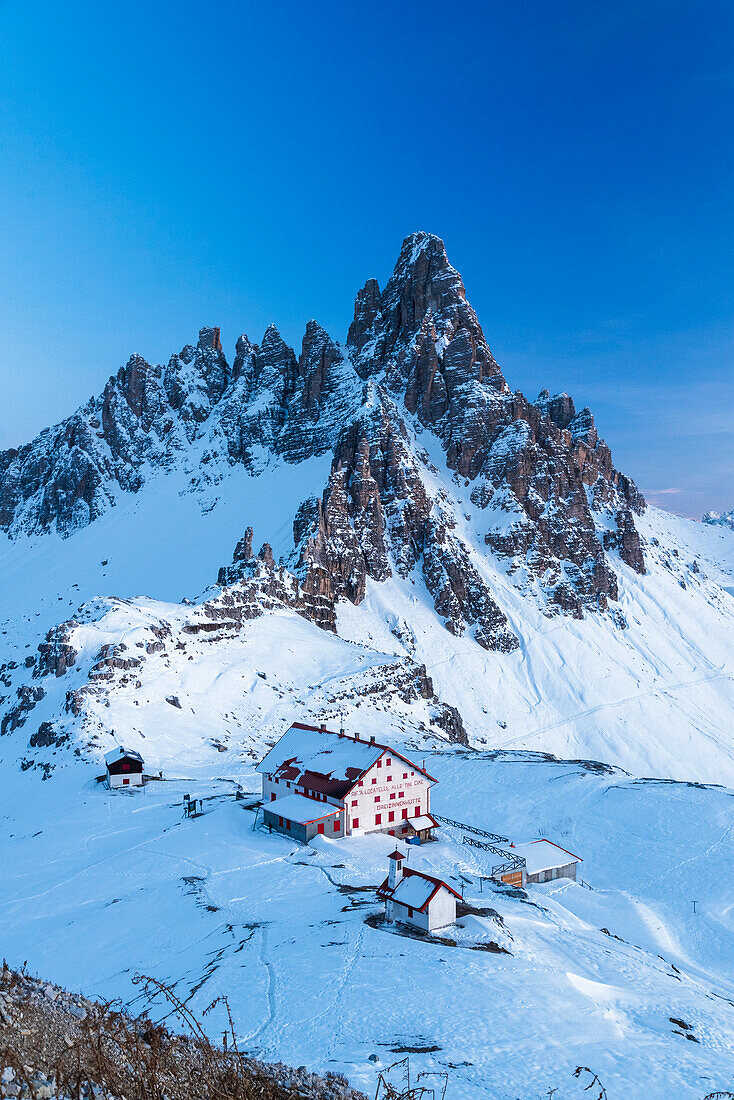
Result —
<svg viewBox="0 0 734 1100"><path fill-rule="evenodd" d="M119 1005L90 1001L11 969L0 975L0 1096L18 1100L365 1100L346 1078L265 1064L226 1048L175 991L139 977L143 999L166 1002L184 1033Z"/></svg>

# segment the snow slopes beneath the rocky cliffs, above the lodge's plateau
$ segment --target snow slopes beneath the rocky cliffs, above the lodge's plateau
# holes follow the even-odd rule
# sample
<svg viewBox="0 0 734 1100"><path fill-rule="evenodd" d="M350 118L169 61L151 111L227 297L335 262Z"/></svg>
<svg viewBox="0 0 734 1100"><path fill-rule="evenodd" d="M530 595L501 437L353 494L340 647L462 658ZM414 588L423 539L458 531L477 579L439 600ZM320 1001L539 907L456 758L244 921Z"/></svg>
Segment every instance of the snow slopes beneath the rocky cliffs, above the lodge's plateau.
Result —
<svg viewBox="0 0 734 1100"><path fill-rule="evenodd" d="M440 449L434 457L432 470L423 466L429 492L440 494L443 507L457 518L454 532L465 547L469 565L504 608L517 647L511 652L486 650L471 630L463 636L446 630L417 569L381 582L366 578L361 603L338 602L339 637L374 650L379 662L398 657L425 666L436 695L459 711L474 746L527 747L562 758L603 760L638 776L734 785L734 538L730 532L647 509L637 519L646 546L646 573L640 576L610 552L618 578L616 607L581 619L549 617L537 597L537 580L526 578L519 586L506 562L487 554L486 509L472 504L463 482L445 463L441 470ZM164 475L72 538L7 540L0 572L1 663L15 667L3 670L2 704L10 715L7 725L15 721L13 715L24 719L17 729L20 757L40 765L63 761L63 754L53 757L51 747L31 746L30 738L43 723L66 729L70 741L81 747L94 726L99 734L95 745L103 749L116 737L130 739L138 728L154 735L161 713L166 721L178 721L165 703L166 695L177 695L186 705L191 666L202 662L216 671L219 663L230 661L232 630L235 641L249 645L247 637L254 629L240 612L233 628L231 610L219 607L216 614L229 616L229 627L209 634L193 654L195 636L188 626L199 612L178 602L186 596L199 603L223 598L226 604L231 596L234 604L242 604L243 585L250 592L252 582L235 581L223 596L211 582L231 557L245 522L255 528L255 546L269 542L276 558L289 560L291 517L328 466L324 455L297 466L277 463L260 476L234 469L204 499L182 492L183 479ZM108 592L118 600L132 600L123 615L119 605L110 615L109 602L101 598ZM146 598L135 598L141 594ZM293 601L284 605L281 598L278 606L285 614ZM302 602L300 610L306 609ZM37 647L47 646L46 634L53 634L59 622L74 620L75 614L87 625L76 627L72 622L64 630L80 656L57 676L58 668L50 667ZM248 617L251 614L247 612ZM308 624L288 614L303 637ZM99 619L105 623L90 625ZM92 671L102 645L134 649L130 635L138 629L135 624L151 622L167 625L165 645L163 653L149 653L144 646L133 653L141 667L128 690L134 694L139 679L146 684L146 694L136 701L135 721L123 707L116 679L103 706L95 705L88 713L95 693L86 693L78 714L68 710L67 696L90 675L98 686L105 683ZM308 629L309 651L331 646L329 631ZM154 640L147 635L144 642ZM186 648L178 648L182 641ZM275 653L264 652L260 671L277 675L275 663ZM44 668L50 672L42 675ZM232 710L242 713L240 701L232 700L224 679L215 671L206 673L211 685L201 724L205 740L219 736L221 715ZM35 702L40 690L44 698ZM191 686L190 692L188 706L199 713L200 703L194 702L197 689ZM278 723L286 719L333 717L337 711L326 697L309 696L305 703L293 696L262 737L275 736ZM0 747L3 755L10 751L8 740Z"/></svg>

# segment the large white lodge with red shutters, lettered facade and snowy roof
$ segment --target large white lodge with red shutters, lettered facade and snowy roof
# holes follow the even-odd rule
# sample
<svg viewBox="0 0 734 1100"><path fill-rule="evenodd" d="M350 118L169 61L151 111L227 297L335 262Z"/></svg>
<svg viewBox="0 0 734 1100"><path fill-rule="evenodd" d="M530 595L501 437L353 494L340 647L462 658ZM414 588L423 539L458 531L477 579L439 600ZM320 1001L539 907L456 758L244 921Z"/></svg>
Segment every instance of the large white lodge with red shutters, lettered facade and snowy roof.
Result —
<svg viewBox="0 0 734 1100"><path fill-rule="evenodd" d="M365 833L428 839L437 828L430 814L436 780L373 737L294 723L258 771L265 824L295 839Z"/></svg>

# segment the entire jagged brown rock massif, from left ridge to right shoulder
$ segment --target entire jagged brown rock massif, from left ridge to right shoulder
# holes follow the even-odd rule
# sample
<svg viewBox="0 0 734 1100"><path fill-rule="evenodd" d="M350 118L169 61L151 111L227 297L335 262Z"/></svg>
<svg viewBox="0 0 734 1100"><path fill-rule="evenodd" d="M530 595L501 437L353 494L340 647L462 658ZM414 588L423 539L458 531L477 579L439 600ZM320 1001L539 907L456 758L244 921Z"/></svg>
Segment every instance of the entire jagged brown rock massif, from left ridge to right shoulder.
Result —
<svg viewBox="0 0 734 1100"><path fill-rule="evenodd" d="M260 344L241 336L231 367L217 328L165 369L133 355L100 397L0 454L0 527L70 535L161 471L185 470L194 488L230 465L256 474L332 452L326 488L295 517L295 575L283 579L265 548L254 559L244 539L221 583L287 596L333 628L336 603L360 603L368 578L415 574L450 630L510 650L516 639L459 534L458 504L428 487L416 440L428 430L483 513L485 546L549 613L604 609L617 559L645 571L635 526L645 502L590 410L567 394L511 392L437 237L406 238L384 290L374 279L360 290L347 348L309 321L299 356L274 326Z"/></svg>

